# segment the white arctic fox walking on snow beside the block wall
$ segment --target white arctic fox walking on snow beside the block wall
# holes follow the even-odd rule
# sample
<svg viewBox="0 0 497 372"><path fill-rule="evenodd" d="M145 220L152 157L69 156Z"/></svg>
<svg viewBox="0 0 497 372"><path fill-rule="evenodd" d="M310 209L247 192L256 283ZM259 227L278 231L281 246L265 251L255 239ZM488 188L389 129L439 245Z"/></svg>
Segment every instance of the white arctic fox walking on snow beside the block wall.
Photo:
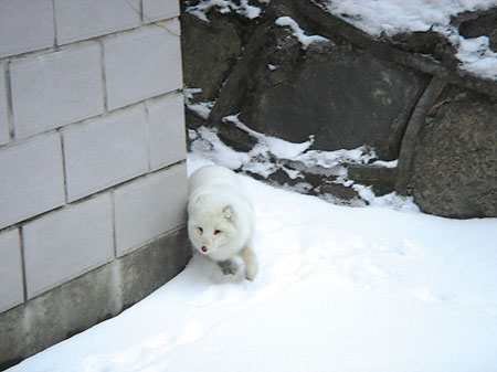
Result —
<svg viewBox="0 0 497 372"><path fill-rule="evenodd" d="M242 257L245 277L257 274L257 258L252 251L254 212L235 172L219 166L205 166L190 176L188 234L194 248L221 266L224 274L235 274L231 261Z"/></svg>

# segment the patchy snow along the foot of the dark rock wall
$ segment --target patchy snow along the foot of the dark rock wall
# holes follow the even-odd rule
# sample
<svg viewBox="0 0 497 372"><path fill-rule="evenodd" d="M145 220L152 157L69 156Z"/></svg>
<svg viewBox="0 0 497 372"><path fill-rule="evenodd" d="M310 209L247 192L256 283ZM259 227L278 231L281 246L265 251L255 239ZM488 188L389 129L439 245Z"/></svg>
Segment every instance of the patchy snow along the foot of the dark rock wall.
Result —
<svg viewBox="0 0 497 372"><path fill-rule="evenodd" d="M412 196L404 198L398 195L395 192L377 196L370 187L358 184L348 178L347 164L371 163L377 167L396 167L396 160L376 160L377 155L374 149L368 146L361 146L351 150L309 150L314 142L313 137L305 142L294 144L281 138L263 135L248 128L239 119L239 115L226 116L223 118L223 121L233 124L237 128L246 131L257 139L257 144L248 152L236 152L221 141L218 137L218 129L200 127L198 130L189 130L192 150L191 156L200 156L231 169L258 174L271 183L273 183L268 179L271 174L278 170L284 171L292 180L302 180L302 182L297 182L293 187L283 187L303 193L308 193L313 189L313 185L305 181L305 177L299 170L300 167L297 167L297 164L302 163L307 168L319 167L326 170L328 177L335 178L335 180L329 180L329 183L342 184L346 188L352 187L358 193L361 199L348 202L350 205L363 206L368 204L393 210L419 212L419 208L414 204ZM293 167L289 168L288 164L281 160L289 161ZM322 194L320 198L331 203L343 202L329 194Z"/></svg>

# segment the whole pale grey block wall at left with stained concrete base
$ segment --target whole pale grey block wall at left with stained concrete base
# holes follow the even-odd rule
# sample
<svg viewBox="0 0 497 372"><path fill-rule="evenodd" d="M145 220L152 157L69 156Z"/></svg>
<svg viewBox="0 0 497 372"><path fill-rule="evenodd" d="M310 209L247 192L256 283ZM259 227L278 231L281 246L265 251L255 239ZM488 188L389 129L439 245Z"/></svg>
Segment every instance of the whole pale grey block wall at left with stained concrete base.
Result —
<svg viewBox="0 0 497 372"><path fill-rule="evenodd" d="M0 368L184 267L179 12L0 0Z"/></svg>

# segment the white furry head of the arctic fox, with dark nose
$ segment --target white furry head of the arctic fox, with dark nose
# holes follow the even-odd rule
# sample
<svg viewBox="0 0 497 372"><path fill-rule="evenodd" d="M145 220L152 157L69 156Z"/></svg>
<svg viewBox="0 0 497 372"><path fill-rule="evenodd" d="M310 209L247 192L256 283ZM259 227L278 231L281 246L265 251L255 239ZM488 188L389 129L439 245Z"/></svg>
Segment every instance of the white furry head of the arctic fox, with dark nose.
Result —
<svg viewBox="0 0 497 372"><path fill-rule="evenodd" d="M194 248L209 255L237 236L232 205L215 196L201 195L189 205L188 234Z"/></svg>

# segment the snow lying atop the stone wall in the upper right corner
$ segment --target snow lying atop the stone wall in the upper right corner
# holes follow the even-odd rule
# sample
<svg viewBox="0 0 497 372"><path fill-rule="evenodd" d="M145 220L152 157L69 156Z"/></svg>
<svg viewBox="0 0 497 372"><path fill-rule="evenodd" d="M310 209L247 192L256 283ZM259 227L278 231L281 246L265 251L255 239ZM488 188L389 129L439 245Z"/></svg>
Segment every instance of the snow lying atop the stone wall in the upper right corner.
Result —
<svg viewBox="0 0 497 372"><path fill-rule="evenodd" d="M488 38L465 39L451 25L451 17L497 7L496 0L332 0L317 4L373 36L429 30L440 32L458 50L456 56L462 63L461 70L497 79L497 53L490 50Z"/></svg>

